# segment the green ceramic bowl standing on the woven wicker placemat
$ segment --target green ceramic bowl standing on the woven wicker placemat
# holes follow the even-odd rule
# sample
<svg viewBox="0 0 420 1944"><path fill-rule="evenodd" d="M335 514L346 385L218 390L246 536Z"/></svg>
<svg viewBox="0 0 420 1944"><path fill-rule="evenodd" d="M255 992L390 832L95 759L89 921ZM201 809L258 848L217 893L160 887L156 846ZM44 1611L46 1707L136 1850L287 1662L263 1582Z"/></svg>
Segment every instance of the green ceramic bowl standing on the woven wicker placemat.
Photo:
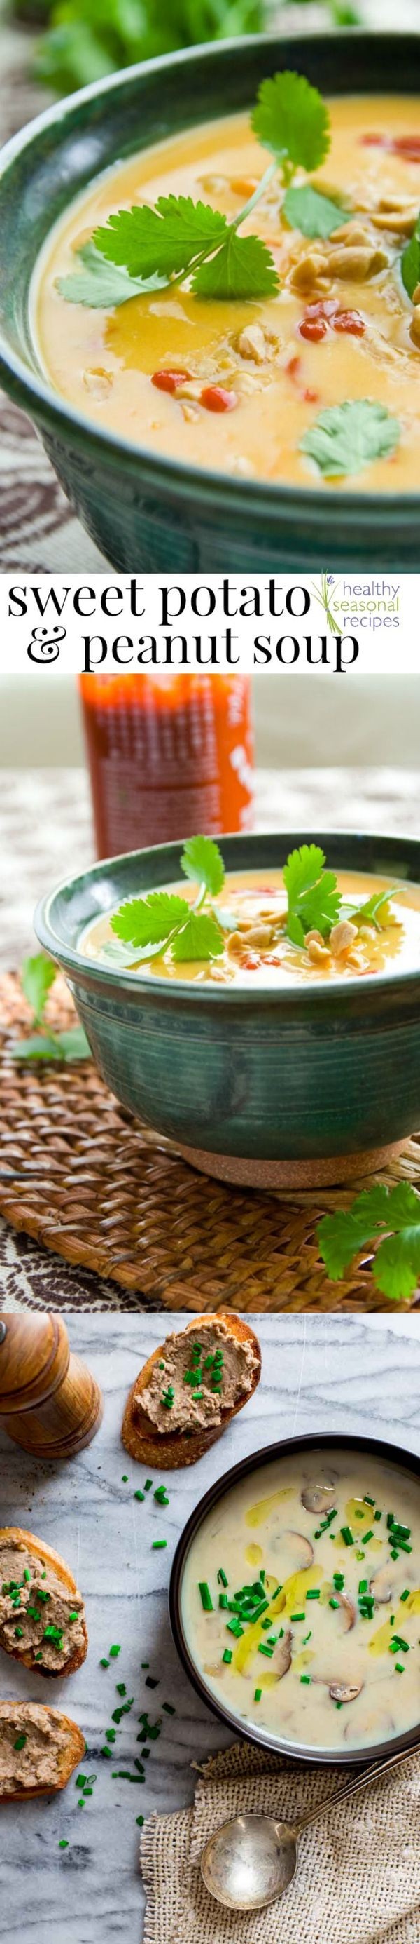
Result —
<svg viewBox="0 0 420 1944"><path fill-rule="evenodd" d="M282 865L313 832L222 840L226 869ZM319 836L334 869L420 883L420 842ZM181 844L130 851L60 885L35 914L91 1052L122 1106L208 1174L294 1188L373 1168L420 1126L418 970L334 986L241 989L117 972L80 953L86 923L181 875Z"/></svg>

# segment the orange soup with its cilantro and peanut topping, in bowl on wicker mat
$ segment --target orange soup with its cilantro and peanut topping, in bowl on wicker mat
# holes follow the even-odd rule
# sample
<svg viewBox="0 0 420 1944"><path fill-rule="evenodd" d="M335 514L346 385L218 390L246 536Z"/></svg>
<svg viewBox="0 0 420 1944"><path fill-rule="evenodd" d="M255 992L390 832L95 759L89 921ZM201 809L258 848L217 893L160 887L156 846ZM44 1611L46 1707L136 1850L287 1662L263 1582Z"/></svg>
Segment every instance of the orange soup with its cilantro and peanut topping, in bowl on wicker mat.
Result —
<svg viewBox="0 0 420 1944"><path fill-rule="evenodd" d="M210 980L212 984L249 988L259 984L294 986L309 980L331 984L377 972L416 970L420 966L420 886L399 885L393 888L387 879L350 871L338 871L334 877L334 873L321 869L323 851L311 846L311 853L317 859L313 904L307 888L307 846L288 859L288 867L296 869L298 859L298 867L307 873L305 888L301 898L296 894L296 904L290 883L286 894L288 867L286 871L229 871L220 892L204 908L212 918L212 937L204 931L206 956L198 956L200 931L191 933L196 937L196 956L192 956L192 945L183 949L183 935L177 939L173 933L173 943L163 947L156 933L154 900L158 898L175 900L173 918L165 918L167 906L161 904L161 925L165 923L167 929L179 921L179 900L187 900L179 910L185 910L187 918L191 912L194 920L200 886L185 881L165 885L161 892L152 892L148 898L132 898L119 908L119 914L95 918L86 927L80 949L88 958L103 958L115 970L121 966L121 970L134 974L142 972L142 976L183 978L194 984ZM327 890L321 900L323 885ZM311 921L311 910L315 921ZM146 914L150 914L150 929ZM208 921L206 918L206 925ZM144 931L148 943L142 943ZM301 933L301 943L294 943L294 931L296 937Z"/></svg>

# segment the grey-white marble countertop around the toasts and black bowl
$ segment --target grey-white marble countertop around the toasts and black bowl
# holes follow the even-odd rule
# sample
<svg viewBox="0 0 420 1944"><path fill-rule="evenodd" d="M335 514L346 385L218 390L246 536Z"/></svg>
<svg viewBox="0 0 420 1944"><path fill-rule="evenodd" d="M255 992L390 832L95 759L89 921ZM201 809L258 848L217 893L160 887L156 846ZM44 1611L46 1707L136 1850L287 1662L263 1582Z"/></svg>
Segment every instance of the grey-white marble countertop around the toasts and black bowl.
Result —
<svg viewBox="0 0 420 1944"><path fill-rule="evenodd" d="M187 1320L179 1316L179 1326ZM4 1808L0 1905L8 1944L21 1944L23 1934L27 1944L140 1944L136 1816L192 1800L191 1763L229 1742L189 1685L167 1619L171 1559L198 1495L247 1452L294 1433L360 1431L385 1439L389 1448L395 1441L420 1452L420 1332L412 1320L387 1326L375 1318L375 1330L356 1316L266 1316L255 1324L261 1386L198 1468L159 1474L167 1510L154 1505L152 1493L144 1505L134 1499L144 1468L126 1458L119 1439L128 1386L163 1334L158 1318L70 1318L72 1347L105 1394L101 1431L78 1458L37 1464L0 1431L2 1524L29 1526L66 1555L86 1594L89 1627L88 1660L70 1682L47 1684L2 1654L0 1691L74 1715L89 1750L84 1773L97 1773L82 1812L72 1781L60 1796ZM152 1551L152 1538L161 1536L167 1549ZM119 1660L101 1668L101 1656L119 1641ZM156 1689L144 1685L142 1660L159 1678ZM165 1699L175 1707L175 1715L161 1713L161 1736L150 1744L146 1787L138 1788L113 1781L113 1763L99 1755L119 1701L117 1682L138 1705L122 1718L115 1767L126 1767L136 1753L140 1709L156 1720Z"/></svg>

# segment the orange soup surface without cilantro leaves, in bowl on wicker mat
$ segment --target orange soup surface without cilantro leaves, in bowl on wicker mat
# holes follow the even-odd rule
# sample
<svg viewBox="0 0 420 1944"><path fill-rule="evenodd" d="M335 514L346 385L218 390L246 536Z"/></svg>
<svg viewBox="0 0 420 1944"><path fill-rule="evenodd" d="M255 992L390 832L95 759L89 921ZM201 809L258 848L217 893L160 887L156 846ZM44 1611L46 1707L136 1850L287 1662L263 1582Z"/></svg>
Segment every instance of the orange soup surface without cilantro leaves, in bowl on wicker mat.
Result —
<svg viewBox="0 0 420 1944"><path fill-rule="evenodd" d="M352 906L371 898L373 892L387 890L391 904L381 918L381 929L371 923L352 925L356 933L344 949L344 937L331 933L331 941L313 931L307 933L307 947L290 945L286 923L286 890L282 871L229 871L224 890L214 900L220 918L226 918L224 953L208 960L175 962L171 947L158 956L148 951L121 955L119 941L111 929L111 916L95 918L84 931L80 951L88 958L103 958L115 968L124 964L132 974L150 978L192 980L194 984L241 984L241 986L290 986L296 982L325 982L362 978L368 972L399 974L420 964L420 886L389 886L387 879L364 873L338 871L336 885L342 898ZM181 879L177 885L161 886L179 892L189 904L194 902L196 885ZM208 910L208 906L206 906ZM338 927L336 927L338 933Z"/></svg>

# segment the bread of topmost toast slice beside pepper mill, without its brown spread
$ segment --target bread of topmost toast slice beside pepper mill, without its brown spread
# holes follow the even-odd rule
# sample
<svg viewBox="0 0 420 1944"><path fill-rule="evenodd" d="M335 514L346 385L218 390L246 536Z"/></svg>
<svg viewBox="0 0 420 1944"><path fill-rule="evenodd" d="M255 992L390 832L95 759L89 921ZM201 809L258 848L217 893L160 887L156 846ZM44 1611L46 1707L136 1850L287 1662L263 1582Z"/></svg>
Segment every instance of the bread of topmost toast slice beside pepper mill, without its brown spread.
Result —
<svg viewBox="0 0 420 1944"><path fill-rule="evenodd" d="M235 1337L237 1343L251 1345L257 1365L253 1371L251 1390L243 1392L237 1404L233 1404L226 1411L222 1409L222 1419L218 1425L200 1425L194 1431L163 1433L150 1423L146 1411L142 1411L142 1406L138 1402L138 1392L146 1390L154 1365L159 1363L163 1349L161 1343L158 1345L158 1349L152 1351L152 1357L148 1357L148 1363L144 1363L140 1376L136 1376L136 1382L132 1384L122 1419L122 1444L126 1452L130 1452L130 1458L138 1458L140 1464L154 1466L156 1472L175 1472L179 1466L196 1464L198 1458L204 1458L204 1452L210 1450L210 1444L216 1444L216 1441L222 1439L226 1425L229 1425L231 1417L235 1417L237 1411L241 1411L243 1406L249 1404L249 1398L257 1390L257 1384L261 1380L261 1345L259 1337L255 1336L255 1330L251 1330L251 1324L245 1324L241 1316L229 1314L229 1310L218 1310L218 1314L214 1316L206 1314L202 1318L192 1316L192 1322L187 1324L187 1330L183 1330L181 1336L185 1337L191 1332L196 1336L200 1324L208 1328L208 1324L220 1324L220 1322L228 1326L229 1336Z"/></svg>

